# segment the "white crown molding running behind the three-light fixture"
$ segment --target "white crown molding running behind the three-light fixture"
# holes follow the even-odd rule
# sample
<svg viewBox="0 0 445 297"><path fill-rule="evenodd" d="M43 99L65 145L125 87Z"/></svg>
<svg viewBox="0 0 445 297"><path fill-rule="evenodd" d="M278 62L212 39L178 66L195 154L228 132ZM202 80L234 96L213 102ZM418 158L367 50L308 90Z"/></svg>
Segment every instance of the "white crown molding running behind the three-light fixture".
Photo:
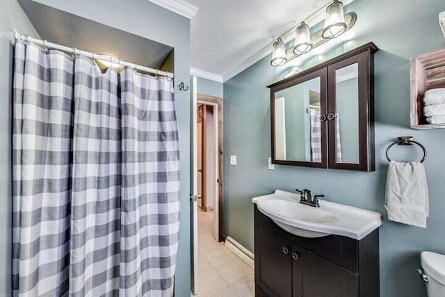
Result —
<svg viewBox="0 0 445 297"><path fill-rule="evenodd" d="M354 0L343 0L343 6L347 6L349 3L353 2ZM312 15L309 15L304 21L309 25L309 27L315 26L316 24L323 21L325 18L325 8L329 3L331 3L332 0L326 1L325 5L318 9L316 12L314 12ZM280 35L282 38L284 44L287 42L293 40L295 38L295 28L292 28ZM276 38L274 38L273 42L275 42ZM232 77L236 76L237 74L240 74L244 70L248 69L248 67L254 65L254 63L257 63L262 58L268 56L269 54L272 54L272 45L273 42L270 42L266 47L263 49L257 51L257 54L254 54L247 60L245 60L243 63L235 66L230 70L229 72L226 72L223 74L223 81L228 81L229 79L232 79Z"/></svg>

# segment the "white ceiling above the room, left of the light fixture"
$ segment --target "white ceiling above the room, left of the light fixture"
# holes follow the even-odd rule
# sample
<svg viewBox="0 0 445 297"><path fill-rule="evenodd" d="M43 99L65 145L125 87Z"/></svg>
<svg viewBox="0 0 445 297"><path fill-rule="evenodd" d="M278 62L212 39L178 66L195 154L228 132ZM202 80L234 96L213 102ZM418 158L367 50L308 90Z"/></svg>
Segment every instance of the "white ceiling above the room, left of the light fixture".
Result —
<svg viewBox="0 0 445 297"><path fill-rule="evenodd" d="M199 8L191 22L191 67L227 80L252 56L331 0L186 0ZM309 23L310 25L310 23ZM261 57L262 58L262 57ZM249 63L250 61L250 63Z"/></svg>

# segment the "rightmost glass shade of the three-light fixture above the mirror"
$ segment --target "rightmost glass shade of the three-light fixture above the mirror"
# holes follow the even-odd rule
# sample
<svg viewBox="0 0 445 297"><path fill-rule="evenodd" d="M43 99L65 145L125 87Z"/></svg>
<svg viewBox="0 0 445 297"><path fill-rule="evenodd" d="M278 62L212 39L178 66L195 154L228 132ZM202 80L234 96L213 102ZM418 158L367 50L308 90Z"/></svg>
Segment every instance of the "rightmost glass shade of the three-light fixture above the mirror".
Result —
<svg viewBox="0 0 445 297"><path fill-rule="evenodd" d="M326 8L325 26L321 37L326 39L339 37L346 31L347 26L343 13L343 3L334 0L334 3Z"/></svg>

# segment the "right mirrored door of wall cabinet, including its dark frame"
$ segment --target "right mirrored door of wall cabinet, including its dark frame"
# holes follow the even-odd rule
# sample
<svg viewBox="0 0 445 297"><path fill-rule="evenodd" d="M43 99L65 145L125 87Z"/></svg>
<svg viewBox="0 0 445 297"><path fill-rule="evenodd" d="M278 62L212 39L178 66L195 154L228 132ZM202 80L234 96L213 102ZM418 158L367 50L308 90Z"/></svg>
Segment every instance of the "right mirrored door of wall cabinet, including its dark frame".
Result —
<svg viewBox="0 0 445 297"><path fill-rule="evenodd" d="M327 67L329 168L373 171L373 65L362 51Z"/></svg>

